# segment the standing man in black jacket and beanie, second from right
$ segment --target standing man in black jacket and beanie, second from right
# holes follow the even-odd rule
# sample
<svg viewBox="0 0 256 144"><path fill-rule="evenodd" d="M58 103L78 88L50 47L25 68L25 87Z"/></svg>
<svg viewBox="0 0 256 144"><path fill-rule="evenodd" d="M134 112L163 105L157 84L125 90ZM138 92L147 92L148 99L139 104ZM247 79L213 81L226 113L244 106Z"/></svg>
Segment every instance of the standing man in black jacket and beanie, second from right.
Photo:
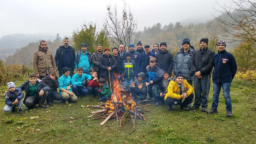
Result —
<svg viewBox="0 0 256 144"><path fill-rule="evenodd" d="M202 112L207 111L208 95L210 90L211 71L213 69L214 52L207 47L208 39L200 40L200 49L195 51L191 58L191 71L194 74L195 103L191 110L202 107Z"/></svg>

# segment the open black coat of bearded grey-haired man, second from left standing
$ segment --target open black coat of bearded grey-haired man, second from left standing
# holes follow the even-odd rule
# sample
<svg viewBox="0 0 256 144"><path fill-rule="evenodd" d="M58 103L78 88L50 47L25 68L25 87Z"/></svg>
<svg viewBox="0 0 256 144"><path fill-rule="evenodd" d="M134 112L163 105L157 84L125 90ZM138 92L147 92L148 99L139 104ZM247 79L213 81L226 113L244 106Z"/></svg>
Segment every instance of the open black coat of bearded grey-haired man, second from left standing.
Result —
<svg viewBox="0 0 256 144"><path fill-rule="evenodd" d="M63 56L63 49L62 46L59 46L58 49L56 50L56 54L55 54L55 62L56 65L58 66L58 71L62 71L62 56ZM71 59L72 59L72 69L74 71L75 69L75 49L72 46L70 47L70 55L71 55Z"/></svg>

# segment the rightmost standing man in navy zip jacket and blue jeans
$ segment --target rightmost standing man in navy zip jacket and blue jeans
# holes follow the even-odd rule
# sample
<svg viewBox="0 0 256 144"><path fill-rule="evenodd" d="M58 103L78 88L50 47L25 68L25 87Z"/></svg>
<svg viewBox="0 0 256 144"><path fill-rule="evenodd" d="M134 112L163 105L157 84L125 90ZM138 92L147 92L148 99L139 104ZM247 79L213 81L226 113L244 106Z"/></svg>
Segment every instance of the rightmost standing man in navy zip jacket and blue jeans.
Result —
<svg viewBox="0 0 256 144"><path fill-rule="evenodd" d="M219 93L222 87L227 117L232 117L230 86L237 72L237 62L235 61L234 55L227 52L225 47L225 41L218 41L218 53L213 55L213 104L211 105L211 110L207 111L207 113L218 113Z"/></svg>

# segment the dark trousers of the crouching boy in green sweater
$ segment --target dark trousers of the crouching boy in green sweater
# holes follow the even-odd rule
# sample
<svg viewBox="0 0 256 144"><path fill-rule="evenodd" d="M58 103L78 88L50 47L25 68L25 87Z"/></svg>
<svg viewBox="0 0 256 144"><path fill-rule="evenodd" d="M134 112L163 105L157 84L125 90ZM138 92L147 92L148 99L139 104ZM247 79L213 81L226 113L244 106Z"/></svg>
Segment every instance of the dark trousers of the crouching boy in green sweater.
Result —
<svg viewBox="0 0 256 144"><path fill-rule="evenodd" d="M28 106L36 105L40 102L45 102L48 94L49 94L49 92L45 91L41 97L39 96L39 94L38 95L30 95L27 97L24 104L28 107Z"/></svg>

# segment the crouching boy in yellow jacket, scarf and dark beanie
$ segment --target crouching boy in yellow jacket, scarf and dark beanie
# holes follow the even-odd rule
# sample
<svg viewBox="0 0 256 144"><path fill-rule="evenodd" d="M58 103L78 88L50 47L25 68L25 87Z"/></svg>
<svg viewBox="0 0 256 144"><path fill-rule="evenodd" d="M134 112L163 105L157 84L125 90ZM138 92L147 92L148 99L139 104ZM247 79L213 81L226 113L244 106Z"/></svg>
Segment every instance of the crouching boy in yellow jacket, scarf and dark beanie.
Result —
<svg viewBox="0 0 256 144"><path fill-rule="evenodd" d="M184 75L180 70L177 71L176 76L172 78L170 81L167 93L165 95L165 101L168 106L168 110L172 110L172 105L175 101L179 99L185 99L181 103L181 109L189 111L187 105L193 99L194 94L193 87L189 85L186 79L184 79Z"/></svg>

